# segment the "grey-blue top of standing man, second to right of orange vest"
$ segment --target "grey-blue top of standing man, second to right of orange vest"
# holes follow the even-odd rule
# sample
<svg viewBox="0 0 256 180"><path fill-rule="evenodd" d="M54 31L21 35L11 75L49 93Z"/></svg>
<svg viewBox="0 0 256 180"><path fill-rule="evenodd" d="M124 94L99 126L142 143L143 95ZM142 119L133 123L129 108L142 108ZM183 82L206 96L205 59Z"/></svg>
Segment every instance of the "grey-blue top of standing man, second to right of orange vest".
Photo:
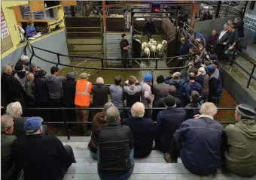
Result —
<svg viewBox="0 0 256 180"><path fill-rule="evenodd" d="M123 88L111 85L109 87L109 93L111 95L111 103L114 104L115 107L123 107Z"/></svg>

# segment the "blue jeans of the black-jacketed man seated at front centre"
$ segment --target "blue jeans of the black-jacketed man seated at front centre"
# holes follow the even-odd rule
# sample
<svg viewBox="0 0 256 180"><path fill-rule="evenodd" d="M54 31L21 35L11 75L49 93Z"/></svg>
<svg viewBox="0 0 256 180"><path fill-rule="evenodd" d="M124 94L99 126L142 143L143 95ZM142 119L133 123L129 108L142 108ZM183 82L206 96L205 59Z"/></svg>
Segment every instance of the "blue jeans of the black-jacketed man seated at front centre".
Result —
<svg viewBox="0 0 256 180"><path fill-rule="evenodd" d="M131 162L131 168L128 172L126 172L126 174L112 176L112 175L104 175L98 172L99 178L102 180L126 180L127 178L130 178L130 175L133 174L133 168L134 168L134 148L131 149L130 151L130 162Z"/></svg>

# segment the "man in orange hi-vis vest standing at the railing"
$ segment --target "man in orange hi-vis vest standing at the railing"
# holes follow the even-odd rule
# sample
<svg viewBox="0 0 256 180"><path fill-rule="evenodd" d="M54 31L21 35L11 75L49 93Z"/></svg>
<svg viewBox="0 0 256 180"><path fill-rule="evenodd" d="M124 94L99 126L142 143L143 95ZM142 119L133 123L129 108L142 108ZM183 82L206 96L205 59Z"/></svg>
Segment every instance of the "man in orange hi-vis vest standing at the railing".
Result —
<svg viewBox="0 0 256 180"><path fill-rule="evenodd" d="M75 107L90 107L90 94L92 93L92 83L88 81L90 74L82 73L81 80L77 81L75 88ZM76 121L87 122L89 118L89 110L76 110ZM82 135L87 135L90 130L87 129L87 124L78 124L78 130L81 129Z"/></svg>

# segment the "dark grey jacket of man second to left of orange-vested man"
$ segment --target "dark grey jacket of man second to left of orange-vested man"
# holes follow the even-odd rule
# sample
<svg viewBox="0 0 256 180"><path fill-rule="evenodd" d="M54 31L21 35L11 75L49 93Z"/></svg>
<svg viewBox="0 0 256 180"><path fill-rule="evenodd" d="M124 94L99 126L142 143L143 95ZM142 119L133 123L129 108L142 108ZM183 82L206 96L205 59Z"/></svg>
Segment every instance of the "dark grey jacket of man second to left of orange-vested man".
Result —
<svg viewBox="0 0 256 180"><path fill-rule="evenodd" d="M62 92L62 81L66 80L66 77L57 77L55 75L50 75L46 79L47 86L49 90L50 99L60 99Z"/></svg>

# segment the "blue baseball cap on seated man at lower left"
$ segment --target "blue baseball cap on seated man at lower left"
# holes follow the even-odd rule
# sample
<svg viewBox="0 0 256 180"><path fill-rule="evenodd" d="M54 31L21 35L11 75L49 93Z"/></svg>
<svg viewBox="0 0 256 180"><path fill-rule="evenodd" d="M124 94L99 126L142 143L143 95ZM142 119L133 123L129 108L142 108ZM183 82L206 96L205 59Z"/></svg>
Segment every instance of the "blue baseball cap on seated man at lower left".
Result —
<svg viewBox="0 0 256 180"><path fill-rule="evenodd" d="M40 129L42 121L44 121L44 119L41 117L28 118L24 122L23 128L26 131L26 133L35 133Z"/></svg>

